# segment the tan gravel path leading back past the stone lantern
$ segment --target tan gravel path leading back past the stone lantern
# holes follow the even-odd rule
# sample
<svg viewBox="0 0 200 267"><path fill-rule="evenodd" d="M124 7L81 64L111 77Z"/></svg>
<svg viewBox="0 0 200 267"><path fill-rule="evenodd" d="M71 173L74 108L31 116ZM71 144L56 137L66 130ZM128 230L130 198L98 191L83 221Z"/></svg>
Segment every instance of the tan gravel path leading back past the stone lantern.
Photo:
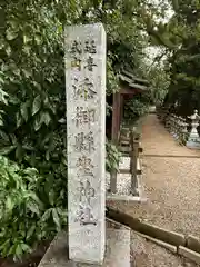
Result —
<svg viewBox="0 0 200 267"><path fill-rule="evenodd" d="M178 145L156 115L144 120L142 147L142 180L148 202L110 202L110 206L157 226L200 236L200 151ZM152 246L149 249L153 253ZM190 265L164 260L164 265L138 266Z"/></svg>

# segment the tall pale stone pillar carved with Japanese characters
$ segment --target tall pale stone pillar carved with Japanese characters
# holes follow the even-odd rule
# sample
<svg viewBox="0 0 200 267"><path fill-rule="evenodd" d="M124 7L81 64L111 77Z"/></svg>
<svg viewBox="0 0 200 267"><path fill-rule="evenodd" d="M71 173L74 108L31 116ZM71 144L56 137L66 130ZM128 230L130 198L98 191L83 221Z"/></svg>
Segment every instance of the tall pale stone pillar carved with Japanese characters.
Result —
<svg viewBox="0 0 200 267"><path fill-rule="evenodd" d="M102 24L67 27L69 257L104 256L106 32Z"/></svg>

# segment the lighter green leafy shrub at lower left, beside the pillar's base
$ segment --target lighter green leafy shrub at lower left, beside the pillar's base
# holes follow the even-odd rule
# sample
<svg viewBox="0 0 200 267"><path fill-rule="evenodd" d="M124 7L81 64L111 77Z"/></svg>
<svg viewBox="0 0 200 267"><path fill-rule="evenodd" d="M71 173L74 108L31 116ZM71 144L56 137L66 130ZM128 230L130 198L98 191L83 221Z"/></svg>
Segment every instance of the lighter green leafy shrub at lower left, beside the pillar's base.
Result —
<svg viewBox="0 0 200 267"><path fill-rule="evenodd" d="M37 241L51 238L66 225L67 214L50 190L52 184L37 169L20 168L0 156L0 255L20 259Z"/></svg>

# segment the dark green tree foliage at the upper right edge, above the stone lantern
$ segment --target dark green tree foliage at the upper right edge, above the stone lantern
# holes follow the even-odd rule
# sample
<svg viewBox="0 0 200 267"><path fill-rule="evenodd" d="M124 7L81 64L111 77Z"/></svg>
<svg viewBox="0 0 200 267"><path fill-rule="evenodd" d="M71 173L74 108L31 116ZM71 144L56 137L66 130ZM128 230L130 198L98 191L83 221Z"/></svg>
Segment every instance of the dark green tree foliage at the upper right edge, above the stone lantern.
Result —
<svg viewBox="0 0 200 267"><path fill-rule="evenodd" d="M199 82L199 11L198 1L179 1L176 10L174 34L181 36L180 47L169 59L171 63L171 83L168 105L176 106L181 115L190 115L193 109L200 109ZM174 105L176 103L176 105Z"/></svg>

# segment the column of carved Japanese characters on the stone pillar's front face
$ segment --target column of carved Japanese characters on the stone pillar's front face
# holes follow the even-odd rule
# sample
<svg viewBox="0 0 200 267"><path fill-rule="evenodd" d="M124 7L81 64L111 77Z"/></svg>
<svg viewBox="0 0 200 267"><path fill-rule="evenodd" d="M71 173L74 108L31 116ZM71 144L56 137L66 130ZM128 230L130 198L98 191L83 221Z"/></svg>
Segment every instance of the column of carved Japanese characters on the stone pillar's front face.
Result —
<svg viewBox="0 0 200 267"><path fill-rule="evenodd" d="M81 58L82 53L87 55L84 60ZM86 40L83 43L79 40L73 40L71 44L71 68L76 68L78 71L86 69L89 72L92 72L93 68L97 67L94 59L91 56L94 53L97 53L94 40ZM84 102L93 100L97 95L89 77L83 77L83 79L74 78L72 80L72 90L73 99L83 100ZM72 121L78 129L82 126L87 128L84 128L84 131L74 135L74 149L80 154L76 164L77 176L80 178L80 199L79 210L77 211L77 218L74 221L79 221L81 225L97 225L91 205L91 199L94 197L96 191L88 180L89 177L94 177L94 166L90 158L90 154L94 150L94 138L90 128L91 125L96 122L96 109L77 106ZM86 154L88 155L86 156ZM87 178L86 185L81 180L83 177Z"/></svg>

